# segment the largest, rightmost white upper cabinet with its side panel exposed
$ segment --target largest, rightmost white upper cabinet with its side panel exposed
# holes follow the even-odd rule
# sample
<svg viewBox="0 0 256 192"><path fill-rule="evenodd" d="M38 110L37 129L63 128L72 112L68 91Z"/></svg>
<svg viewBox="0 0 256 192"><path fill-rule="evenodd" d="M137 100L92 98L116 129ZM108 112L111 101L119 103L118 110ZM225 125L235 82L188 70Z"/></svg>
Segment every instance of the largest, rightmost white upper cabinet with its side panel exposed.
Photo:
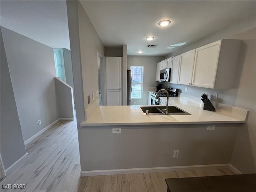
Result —
<svg viewBox="0 0 256 192"><path fill-rule="evenodd" d="M240 43L223 39L196 48L192 86L232 88Z"/></svg>

